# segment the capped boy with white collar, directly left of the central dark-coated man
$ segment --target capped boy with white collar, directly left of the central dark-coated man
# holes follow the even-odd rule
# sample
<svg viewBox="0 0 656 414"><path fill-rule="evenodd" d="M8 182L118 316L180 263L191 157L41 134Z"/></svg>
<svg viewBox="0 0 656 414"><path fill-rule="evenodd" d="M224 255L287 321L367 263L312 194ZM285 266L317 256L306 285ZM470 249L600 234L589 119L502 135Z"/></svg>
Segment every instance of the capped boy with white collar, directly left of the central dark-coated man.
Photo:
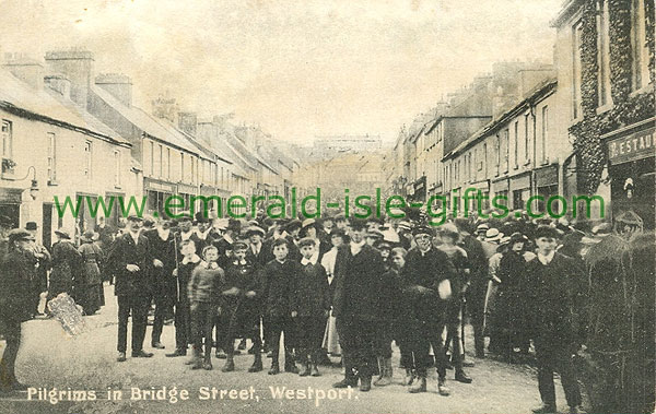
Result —
<svg viewBox="0 0 656 414"><path fill-rule="evenodd" d="M295 308L298 333L298 357L304 365L302 377L318 377L317 368L326 320L330 310L330 293L326 269L317 262L314 238L298 241L303 271L296 282Z"/></svg>

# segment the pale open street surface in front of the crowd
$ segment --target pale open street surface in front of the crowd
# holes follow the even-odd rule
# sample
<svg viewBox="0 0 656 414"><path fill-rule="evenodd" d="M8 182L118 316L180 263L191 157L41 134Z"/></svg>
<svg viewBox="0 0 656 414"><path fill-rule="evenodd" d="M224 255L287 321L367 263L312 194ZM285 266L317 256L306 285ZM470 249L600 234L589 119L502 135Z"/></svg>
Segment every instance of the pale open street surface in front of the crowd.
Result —
<svg viewBox="0 0 656 414"><path fill-rule="evenodd" d="M253 355L246 353L235 357L236 370L233 372L221 372L223 360L216 358L212 359L214 369L211 371L190 370L184 365L185 357L164 356L175 344L173 326L164 327L162 343L166 350L149 347L149 327L144 350L153 352L154 357L130 358L128 353L127 362L117 363L117 306L112 286L105 286L105 295L107 305L99 315L84 318L86 330L80 335L68 335L52 319L36 319L23 324L16 375L21 382L33 389L0 397L0 413L520 414L530 413L531 407L540 404L535 368L491 358L479 359L469 354L467 358L476 364L467 368L473 382L456 382L449 371L449 397L437 394L434 371L429 378L429 392L409 394L400 385L403 370L398 368L398 348L395 348L393 359L394 383L374 387L366 393L353 389L338 394L331 385L342 378L339 367L319 367L320 377L285 372L269 376L270 359L265 357L263 371L246 372L253 362ZM471 338L471 330L467 331L467 336ZM129 341L128 338L128 344ZM473 348L472 344L468 347ZM4 342L0 342L0 348L4 348ZM338 358L333 360L337 363ZM557 397L559 407L566 412L558 380ZM80 401L81 398L86 401Z"/></svg>

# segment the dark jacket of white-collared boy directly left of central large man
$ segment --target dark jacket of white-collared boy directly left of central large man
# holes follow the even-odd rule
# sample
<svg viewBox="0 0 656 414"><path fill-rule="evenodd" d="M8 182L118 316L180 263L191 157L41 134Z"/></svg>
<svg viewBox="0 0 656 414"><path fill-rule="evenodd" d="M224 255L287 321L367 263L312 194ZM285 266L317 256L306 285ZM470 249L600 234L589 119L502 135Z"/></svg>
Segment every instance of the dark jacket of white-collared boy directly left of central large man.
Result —
<svg viewBox="0 0 656 414"><path fill-rule="evenodd" d="M326 269L319 263L301 264L294 301L300 317L321 317L330 310L330 287Z"/></svg>

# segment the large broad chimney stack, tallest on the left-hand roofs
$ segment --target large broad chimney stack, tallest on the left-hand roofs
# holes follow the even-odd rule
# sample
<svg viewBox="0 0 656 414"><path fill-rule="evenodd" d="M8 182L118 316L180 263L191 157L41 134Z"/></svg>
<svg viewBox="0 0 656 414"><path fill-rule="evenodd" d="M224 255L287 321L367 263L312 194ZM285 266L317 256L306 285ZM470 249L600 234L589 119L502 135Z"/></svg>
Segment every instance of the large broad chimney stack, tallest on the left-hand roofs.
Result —
<svg viewBox="0 0 656 414"><path fill-rule="evenodd" d="M93 54L83 48L48 51L46 63L50 72L62 73L70 80L71 99L86 107L93 71Z"/></svg>

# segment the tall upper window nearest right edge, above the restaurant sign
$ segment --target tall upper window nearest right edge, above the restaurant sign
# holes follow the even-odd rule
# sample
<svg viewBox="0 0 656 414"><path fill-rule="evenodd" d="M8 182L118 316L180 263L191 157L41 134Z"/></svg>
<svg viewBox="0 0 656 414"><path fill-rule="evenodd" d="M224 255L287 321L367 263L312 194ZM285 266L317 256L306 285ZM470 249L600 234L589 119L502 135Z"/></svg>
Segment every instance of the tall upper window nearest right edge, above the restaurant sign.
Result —
<svg viewBox="0 0 656 414"><path fill-rule="evenodd" d="M645 28L645 1L632 0L631 7L631 54L633 90L649 83L649 49Z"/></svg>

